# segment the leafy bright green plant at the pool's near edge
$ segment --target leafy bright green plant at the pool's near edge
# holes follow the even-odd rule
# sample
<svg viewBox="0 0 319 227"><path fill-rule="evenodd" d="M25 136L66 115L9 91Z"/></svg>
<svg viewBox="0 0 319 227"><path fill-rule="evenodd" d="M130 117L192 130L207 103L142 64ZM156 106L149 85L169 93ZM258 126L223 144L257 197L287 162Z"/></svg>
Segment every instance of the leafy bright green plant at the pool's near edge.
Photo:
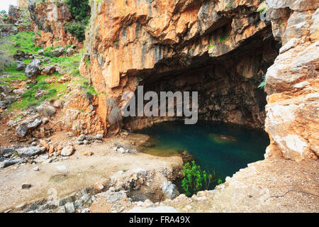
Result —
<svg viewBox="0 0 319 227"><path fill-rule="evenodd" d="M183 179L181 180L181 187L186 196L192 196L200 191L207 190L209 185L216 180L216 175L208 174L205 170L201 170L195 161L187 162L183 166Z"/></svg>

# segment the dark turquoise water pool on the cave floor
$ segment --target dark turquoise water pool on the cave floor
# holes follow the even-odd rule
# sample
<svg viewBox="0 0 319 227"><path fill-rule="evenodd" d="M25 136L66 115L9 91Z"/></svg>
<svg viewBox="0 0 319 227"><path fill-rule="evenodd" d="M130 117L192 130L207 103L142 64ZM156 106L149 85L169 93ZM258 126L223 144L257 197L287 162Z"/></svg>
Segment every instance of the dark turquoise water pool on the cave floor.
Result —
<svg viewBox="0 0 319 227"><path fill-rule="evenodd" d="M269 136L264 131L227 123L184 125L174 121L135 132L152 137L153 146L143 148L142 152L169 156L186 150L202 169L215 171L223 181L248 163L263 160L269 145Z"/></svg>

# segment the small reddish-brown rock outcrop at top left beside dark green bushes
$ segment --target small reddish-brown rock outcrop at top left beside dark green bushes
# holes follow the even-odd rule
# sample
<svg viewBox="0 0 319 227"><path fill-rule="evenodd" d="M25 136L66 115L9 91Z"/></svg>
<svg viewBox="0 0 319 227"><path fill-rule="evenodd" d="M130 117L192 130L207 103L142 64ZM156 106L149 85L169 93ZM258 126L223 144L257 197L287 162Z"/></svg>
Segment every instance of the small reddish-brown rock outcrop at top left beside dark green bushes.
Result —
<svg viewBox="0 0 319 227"><path fill-rule="evenodd" d="M30 0L28 9L36 24L35 44L43 48L50 46L80 45L79 40L67 33L65 23L72 16L63 0L38 2ZM38 35L40 31L40 35Z"/></svg>

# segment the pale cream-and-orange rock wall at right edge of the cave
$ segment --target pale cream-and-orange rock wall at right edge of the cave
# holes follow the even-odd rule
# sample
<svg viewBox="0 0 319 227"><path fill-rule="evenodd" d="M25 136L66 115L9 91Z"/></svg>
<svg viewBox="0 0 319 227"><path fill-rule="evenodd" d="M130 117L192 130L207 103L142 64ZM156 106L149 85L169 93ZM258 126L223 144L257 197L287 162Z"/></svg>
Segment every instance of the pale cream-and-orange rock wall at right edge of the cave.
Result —
<svg viewBox="0 0 319 227"><path fill-rule="evenodd" d="M319 155L319 2L270 1L280 55L267 72L266 157L292 160Z"/></svg>

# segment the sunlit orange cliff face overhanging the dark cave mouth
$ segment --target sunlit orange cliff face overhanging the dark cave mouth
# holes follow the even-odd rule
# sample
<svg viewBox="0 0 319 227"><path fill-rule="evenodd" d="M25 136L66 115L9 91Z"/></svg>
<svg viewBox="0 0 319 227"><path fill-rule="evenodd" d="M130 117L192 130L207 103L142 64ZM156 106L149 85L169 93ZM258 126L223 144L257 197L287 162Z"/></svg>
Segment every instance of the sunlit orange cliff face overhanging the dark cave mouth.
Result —
<svg viewBox="0 0 319 227"><path fill-rule="evenodd" d="M140 77L210 64L209 59L213 62L214 57L243 48L249 39L259 37L262 42L269 37L270 25L261 21L256 11L259 4L257 0L230 4L197 0L92 1L91 14L95 16L91 18L88 44L91 67L88 70L82 60L80 72L83 76L91 74L91 82L99 93L96 113L104 128L110 126L108 133L121 128L121 120L111 122L110 114L125 105L121 95L134 92ZM202 62L194 60L199 58ZM269 58L267 64L272 61ZM254 69L241 72L248 72L250 78ZM261 73L258 72L257 79L262 77ZM110 108L110 100L116 101L116 106ZM252 124L261 128L263 110L256 107L250 111L253 121L258 121ZM238 112L230 115L230 122L242 123L240 114L244 114Z"/></svg>

